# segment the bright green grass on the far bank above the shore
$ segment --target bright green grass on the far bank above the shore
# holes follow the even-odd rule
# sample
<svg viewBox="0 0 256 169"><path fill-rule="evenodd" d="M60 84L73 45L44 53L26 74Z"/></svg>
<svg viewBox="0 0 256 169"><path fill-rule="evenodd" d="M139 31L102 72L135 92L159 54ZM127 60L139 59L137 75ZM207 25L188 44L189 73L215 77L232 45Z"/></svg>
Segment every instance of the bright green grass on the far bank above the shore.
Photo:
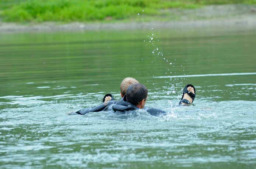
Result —
<svg viewBox="0 0 256 169"><path fill-rule="evenodd" d="M0 0L5 22L105 21L161 15L162 9L211 4L256 4L256 0Z"/></svg>

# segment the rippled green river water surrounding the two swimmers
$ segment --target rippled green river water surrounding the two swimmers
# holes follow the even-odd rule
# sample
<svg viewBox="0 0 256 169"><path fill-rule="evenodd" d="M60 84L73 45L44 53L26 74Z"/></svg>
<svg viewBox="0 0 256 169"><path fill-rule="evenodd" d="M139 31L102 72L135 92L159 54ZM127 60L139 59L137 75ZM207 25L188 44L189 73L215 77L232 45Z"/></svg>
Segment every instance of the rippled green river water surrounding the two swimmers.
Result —
<svg viewBox="0 0 256 169"><path fill-rule="evenodd" d="M0 168L256 168L255 65L254 29L0 33ZM129 76L168 114L67 115Z"/></svg>

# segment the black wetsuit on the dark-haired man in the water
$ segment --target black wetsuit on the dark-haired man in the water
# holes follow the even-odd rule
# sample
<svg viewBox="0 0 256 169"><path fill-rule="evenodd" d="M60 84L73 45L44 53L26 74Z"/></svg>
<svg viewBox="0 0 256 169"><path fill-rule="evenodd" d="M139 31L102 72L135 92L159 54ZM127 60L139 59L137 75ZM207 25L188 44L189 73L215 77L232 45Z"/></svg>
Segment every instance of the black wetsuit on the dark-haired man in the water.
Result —
<svg viewBox="0 0 256 169"><path fill-rule="evenodd" d="M121 100L110 100L106 103L102 103L100 105L97 105L92 108L84 108L76 112L76 114L85 115L88 112L99 112L99 111L118 111L118 112L125 112L125 111L131 111L139 109L135 105L129 103L126 101L126 96L124 96ZM153 115L153 116L159 116L161 114L166 114L165 111L156 109L156 108L145 108L145 110Z"/></svg>

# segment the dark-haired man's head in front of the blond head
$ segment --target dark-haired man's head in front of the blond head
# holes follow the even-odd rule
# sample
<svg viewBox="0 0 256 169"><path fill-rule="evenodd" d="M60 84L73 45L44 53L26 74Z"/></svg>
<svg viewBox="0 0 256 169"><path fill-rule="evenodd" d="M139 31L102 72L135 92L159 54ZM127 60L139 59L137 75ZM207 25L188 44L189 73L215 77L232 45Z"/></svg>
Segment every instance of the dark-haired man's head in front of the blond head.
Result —
<svg viewBox="0 0 256 169"><path fill-rule="evenodd" d="M126 101L136 105L137 108L144 108L147 96L148 89L143 84L131 84L126 92Z"/></svg>

